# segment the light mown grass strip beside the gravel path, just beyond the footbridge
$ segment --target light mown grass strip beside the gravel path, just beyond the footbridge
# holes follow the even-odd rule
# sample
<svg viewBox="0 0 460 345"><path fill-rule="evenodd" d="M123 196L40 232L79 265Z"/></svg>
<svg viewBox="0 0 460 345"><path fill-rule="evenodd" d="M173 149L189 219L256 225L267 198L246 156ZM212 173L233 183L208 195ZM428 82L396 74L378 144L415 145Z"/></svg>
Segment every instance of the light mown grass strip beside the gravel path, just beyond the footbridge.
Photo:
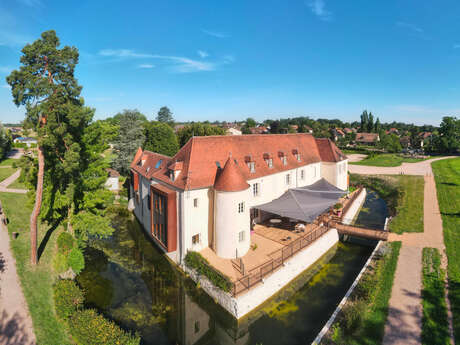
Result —
<svg viewBox="0 0 460 345"><path fill-rule="evenodd" d="M396 217L390 222L390 231L423 232L423 176L392 176L397 179L400 190L396 206Z"/></svg>

